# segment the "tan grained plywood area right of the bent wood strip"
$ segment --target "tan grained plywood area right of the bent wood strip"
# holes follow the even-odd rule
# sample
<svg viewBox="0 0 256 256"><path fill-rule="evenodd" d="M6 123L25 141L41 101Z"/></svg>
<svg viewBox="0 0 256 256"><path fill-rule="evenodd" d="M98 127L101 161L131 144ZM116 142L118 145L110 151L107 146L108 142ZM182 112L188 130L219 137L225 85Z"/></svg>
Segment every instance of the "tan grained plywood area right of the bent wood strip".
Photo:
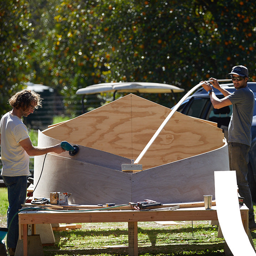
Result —
<svg viewBox="0 0 256 256"><path fill-rule="evenodd" d="M139 162L143 169L203 154L224 145L222 130L176 113Z"/></svg>

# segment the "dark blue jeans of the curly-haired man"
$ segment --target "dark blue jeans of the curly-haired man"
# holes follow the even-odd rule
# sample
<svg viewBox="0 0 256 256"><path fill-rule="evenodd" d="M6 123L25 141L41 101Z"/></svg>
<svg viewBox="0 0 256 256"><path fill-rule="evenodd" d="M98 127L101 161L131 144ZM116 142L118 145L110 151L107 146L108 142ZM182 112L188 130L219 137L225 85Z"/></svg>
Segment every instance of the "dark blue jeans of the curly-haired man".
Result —
<svg viewBox="0 0 256 256"><path fill-rule="evenodd" d="M8 210L7 210L7 227L9 228L7 237L8 248L16 248L19 239L19 218L18 214L10 222L16 212L18 212L25 203L27 195L27 176L3 176L4 183L8 190Z"/></svg>

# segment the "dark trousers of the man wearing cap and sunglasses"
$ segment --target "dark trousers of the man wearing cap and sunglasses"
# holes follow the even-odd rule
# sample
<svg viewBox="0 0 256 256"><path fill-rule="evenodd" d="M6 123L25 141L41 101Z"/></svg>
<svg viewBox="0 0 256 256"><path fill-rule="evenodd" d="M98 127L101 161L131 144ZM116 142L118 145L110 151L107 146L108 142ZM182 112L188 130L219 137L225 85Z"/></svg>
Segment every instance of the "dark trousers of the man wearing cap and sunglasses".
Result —
<svg viewBox="0 0 256 256"><path fill-rule="evenodd" d="M241 143L229 142L228 148L229 168L236 171L239 195L244 197L244 204L249 208L249 219L254 218L252 195L247 181L250 147Z"/></svg>

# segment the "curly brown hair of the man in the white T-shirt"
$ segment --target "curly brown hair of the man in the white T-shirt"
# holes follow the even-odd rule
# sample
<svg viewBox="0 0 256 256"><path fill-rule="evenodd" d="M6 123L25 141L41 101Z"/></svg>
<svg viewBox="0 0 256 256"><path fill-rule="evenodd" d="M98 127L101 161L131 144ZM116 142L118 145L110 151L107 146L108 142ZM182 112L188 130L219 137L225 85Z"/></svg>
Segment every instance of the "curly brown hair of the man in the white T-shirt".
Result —
<svg viewBox="0 0 256 256"><path fill-rule="evenodd" d="M19 91L9 99L9 104L12 106L12 108L22 108L23 110L30 108L32 102L35 103L34 107L36 109L38 109L38 107L42 107L41 96L31 90Z"/></svg>

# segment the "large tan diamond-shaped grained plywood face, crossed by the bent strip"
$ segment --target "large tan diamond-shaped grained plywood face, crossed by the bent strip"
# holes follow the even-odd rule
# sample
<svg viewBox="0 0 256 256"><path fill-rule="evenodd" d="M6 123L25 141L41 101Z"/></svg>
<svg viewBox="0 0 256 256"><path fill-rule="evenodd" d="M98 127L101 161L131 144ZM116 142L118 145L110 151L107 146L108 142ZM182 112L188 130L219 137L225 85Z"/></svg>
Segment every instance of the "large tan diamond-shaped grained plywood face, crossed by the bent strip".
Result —
<svg viewBox="0 0 256 256"><path fill-rule="evenodd" d="M136 159L170 111L129 94L42 133ZM223 146L222 138L221 129L176 112L140 163L148 169L202 154Z"/></svg>

